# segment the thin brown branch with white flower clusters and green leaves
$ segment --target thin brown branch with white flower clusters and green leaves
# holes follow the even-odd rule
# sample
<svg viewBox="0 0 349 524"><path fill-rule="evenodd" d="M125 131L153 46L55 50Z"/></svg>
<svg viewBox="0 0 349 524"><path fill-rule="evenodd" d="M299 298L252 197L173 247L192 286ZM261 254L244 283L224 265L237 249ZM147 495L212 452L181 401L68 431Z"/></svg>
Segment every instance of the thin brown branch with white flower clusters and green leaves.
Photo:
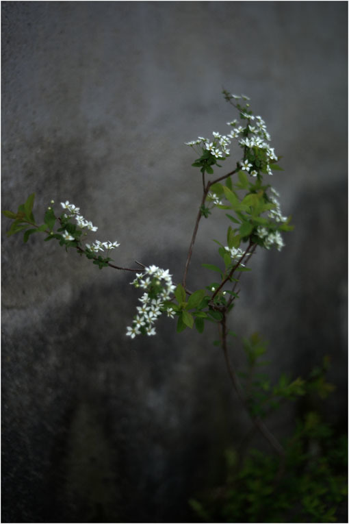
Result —
<svg viewBox="0 0 349 524"><path fill-rule="evenodd" d="M140 305L136 307L137 313L131 325L127 327L126 335L130 338L141 334L155 335L155 323L164 313L170 319L177 318L177 332L195 326L197 331L202 333L205 322L216 323L224 360L235 392L250 413L259 432L270 442L276 453L283 457L283 447L279 441L270 433L261 416L254 414L250 409L250 398L244 394L237 373L229 360L227 314L233 308L233 301L239 297L240 292L236 292L240 276L236 278L235 273L241 275L244 271L250 271L246 264L257 247L270 249L275 246L281 250L284 245L281 233L289 231L292 226L289 225L290 218L287 219L281 213L279 193L270 184L263 182L263 175L272 175L272 171L282 171L277 164L279 158L268 143L270 135L266 123L261 116L253 115L248 97L231 95L227 91L223 94L239 112L240 125L235 119L227 122L230 128L227 135L213 132L212 139L199 136L197 140L186 142L198 154L192 166L201 171L203 194L181 284L176 285L172 282L172 275L168 269L161 269L155 265L144 266L136 262L140 269L133 269L114 264L109 253L120 246L116 240L94 240L82 245L82 238L89 232L96 232L98 227L81 216L79 208L69 201L61 202L63 212L60 216L55 215L50 205L44 214L42 225L38 225L34 219L34 193L18 207L16 213L3 211L3 214L13 221L8 236L23 232L23 240L27 242L31 234L43 232L47 235L44 240L56 239L65 249L77 249L78 253L86 255L93 264L98 265L99 269L109 266L121 271L135 272L135 279L131 284L142 289L143 294L139 298ZM243 100L244 105L235 102L237 100ZM229 145L234 139L242 149L242 158L236 163L236 168L214 178L213 182L206 182L206 173L213 175L216 167L222 167L218 162L229 158ZM234 181L233 175L236 175ZM54 201L51 201L51 204L53 203ZM215 240L224 268L214 264L203 264L209 271L220 275L220 282L208 283L192 292L187 289L187 279L198 227L201 218L204 216L207 219L214 208L228 211L226 216L231 224L227 229L227 245ZM229 289L232 283L233 286Z"/></svg>

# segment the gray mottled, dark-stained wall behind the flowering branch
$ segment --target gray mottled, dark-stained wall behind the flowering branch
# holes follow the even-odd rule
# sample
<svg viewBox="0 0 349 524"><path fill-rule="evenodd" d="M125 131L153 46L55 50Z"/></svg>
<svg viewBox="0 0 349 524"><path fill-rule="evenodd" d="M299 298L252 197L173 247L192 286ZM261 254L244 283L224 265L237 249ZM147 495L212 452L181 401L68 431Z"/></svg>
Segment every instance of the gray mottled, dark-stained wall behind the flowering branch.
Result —
<svg viewBox="0 0 349 524"><path fill-rule="evenodd" d="M10 2L2 7L2 208L68 199L121 265L181 279L201 180L183 142L226 132L222 86L268 123L296 229L258 253L232 327L270 340L272 373L332 357L346 413L346 2ZM235 166L235 159L224 164ZM222 174L224 174L222 171ZM8 221L3 220L3 231ZM199 232L203 286L218 214ZM248 428L216 334L129 340L130 275L3 236L3 521L166 522ZM241 359L240 347L234 358ZM282 436L285 421L271 421Z"/></svg>

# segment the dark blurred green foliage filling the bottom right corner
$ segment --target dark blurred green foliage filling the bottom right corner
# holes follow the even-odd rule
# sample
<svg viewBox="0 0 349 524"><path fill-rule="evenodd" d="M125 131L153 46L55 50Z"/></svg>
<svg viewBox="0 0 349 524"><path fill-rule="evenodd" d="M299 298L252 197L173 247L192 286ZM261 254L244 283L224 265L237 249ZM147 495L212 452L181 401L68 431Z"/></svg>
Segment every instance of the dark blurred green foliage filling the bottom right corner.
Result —
<svg viewBox="0 0 349 524"><path fill-rule="evenodd" d="M219 488L209 486L190 506L203 522L336 522L348 496L347 455L346 436L308 412L285 442L281 478L276 456L250 449L242 460L229 449Z"/></svg>

